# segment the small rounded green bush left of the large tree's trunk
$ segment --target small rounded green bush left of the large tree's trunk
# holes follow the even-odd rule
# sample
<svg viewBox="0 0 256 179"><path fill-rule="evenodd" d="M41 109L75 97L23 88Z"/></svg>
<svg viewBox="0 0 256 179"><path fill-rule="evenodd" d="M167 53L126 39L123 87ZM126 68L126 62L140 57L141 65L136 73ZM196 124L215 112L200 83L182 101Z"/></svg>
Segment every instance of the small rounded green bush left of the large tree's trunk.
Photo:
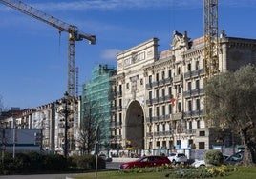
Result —
<svg viewBox="0 0 256 179"><path fill-rule="evenodd" d="M206 164L220 166L224 163L224 156L221 151L213 149L205 152L203 160Z"/></svg>

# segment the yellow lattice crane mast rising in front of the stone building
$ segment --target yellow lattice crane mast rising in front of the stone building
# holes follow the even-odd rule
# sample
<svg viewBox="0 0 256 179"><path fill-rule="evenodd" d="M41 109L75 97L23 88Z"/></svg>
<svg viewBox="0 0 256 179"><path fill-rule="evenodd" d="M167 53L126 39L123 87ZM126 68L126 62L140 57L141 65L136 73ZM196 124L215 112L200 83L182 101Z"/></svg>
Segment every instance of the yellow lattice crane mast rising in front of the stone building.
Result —
<svg viewBox="0 0 256 179"><path fill-rule="evenodd" d="M219 73L218 0L204 0L205 80Z"/></svg>

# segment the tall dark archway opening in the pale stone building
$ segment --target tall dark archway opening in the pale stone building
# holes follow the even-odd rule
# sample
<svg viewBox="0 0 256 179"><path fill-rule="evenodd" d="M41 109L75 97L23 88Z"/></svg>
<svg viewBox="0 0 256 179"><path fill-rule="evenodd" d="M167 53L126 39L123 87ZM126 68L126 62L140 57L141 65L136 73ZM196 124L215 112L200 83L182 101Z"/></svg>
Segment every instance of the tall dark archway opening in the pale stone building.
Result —
<svg viewBox="0 0 256 179"><path fill-rule="evenodd" d="M133 101L127 109L126 139L135 149L144 149L144 113L138 101Z"/></svg>

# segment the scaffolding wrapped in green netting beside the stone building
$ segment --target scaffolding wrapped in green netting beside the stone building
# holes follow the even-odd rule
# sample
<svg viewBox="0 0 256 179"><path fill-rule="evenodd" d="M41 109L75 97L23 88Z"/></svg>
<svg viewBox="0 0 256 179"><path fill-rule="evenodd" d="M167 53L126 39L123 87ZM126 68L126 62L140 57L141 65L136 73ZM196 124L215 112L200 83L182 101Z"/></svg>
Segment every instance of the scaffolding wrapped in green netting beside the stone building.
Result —
<svg viewBox="0 0 256 179"><path fill-rule="evenodd" d="M92 71L92 79L83 85L81 120L90 118L93 128L99 126L101 150L109 149L111 119L111 89L115 83L112 76L117 70L108 65L98 65Z"/></svg>

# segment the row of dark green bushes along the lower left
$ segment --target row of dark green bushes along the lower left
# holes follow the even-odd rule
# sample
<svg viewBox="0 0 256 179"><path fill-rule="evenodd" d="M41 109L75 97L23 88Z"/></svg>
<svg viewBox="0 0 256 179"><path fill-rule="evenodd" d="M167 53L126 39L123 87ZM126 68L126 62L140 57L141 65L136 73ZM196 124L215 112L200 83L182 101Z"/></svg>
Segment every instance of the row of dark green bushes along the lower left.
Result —
<svg viewBox="0 0 256 179"><path fill-rule="evenodd" d="M42 154L35 151L16 153L5 152L4 163L0 162L0 174L49 173L59 171L96 169L96 156L72 156L65 158L58 154ZM106 162L98 157L97 169L106 169Z"/></svg>

